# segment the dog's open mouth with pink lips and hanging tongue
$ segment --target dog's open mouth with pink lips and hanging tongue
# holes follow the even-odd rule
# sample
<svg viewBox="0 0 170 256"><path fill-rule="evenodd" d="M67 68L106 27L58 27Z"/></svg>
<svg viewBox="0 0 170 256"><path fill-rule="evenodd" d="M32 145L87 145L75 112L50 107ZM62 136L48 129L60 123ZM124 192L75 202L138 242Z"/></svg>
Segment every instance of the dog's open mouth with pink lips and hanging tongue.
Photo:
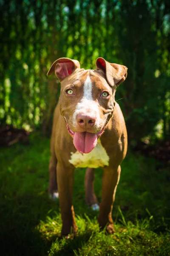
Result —
<svg viewBox="0 0 170 256"><path fill-rule="evenodd" d="M106 123L98 133L91 133L88 131L74 132L69 128L68 124L67 123L66 124L67 124L67 131L73 138L73 143L75 148L80 153L88 154L95 148L97 144L97 139L100 136L102 136L102 134L105 132Z"/></svg>

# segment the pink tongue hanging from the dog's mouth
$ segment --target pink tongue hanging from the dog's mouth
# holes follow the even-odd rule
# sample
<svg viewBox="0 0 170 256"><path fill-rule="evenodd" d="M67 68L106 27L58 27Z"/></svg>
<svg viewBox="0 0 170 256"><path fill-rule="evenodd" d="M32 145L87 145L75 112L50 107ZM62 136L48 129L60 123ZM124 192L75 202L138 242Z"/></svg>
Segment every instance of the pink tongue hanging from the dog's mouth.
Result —
<svg viewBox="0 0 170 256"><path fill-rule="evenodd" d="M90 153L97 144L97 135L90 132L75 132L73 143L80 153Z"/></svg>

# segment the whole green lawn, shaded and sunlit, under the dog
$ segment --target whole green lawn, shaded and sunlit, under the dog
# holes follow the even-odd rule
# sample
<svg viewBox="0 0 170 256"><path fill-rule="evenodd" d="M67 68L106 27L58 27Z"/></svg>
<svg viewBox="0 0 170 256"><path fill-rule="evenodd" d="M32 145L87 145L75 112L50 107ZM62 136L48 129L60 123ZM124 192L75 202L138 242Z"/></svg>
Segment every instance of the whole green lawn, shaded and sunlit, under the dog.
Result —
<svg viewBox="0 0 170 256"><path fill-rule="evenodd" d="M48 199L49 139L0 148L0 254L3 256L170 255L170 170L128 152L113 207L116 232L99 232L97 212L85 205L85 169L75 171L74 209L79 231L61 239L59 202ZM102 170L95 172L101 199Z"/></svg>

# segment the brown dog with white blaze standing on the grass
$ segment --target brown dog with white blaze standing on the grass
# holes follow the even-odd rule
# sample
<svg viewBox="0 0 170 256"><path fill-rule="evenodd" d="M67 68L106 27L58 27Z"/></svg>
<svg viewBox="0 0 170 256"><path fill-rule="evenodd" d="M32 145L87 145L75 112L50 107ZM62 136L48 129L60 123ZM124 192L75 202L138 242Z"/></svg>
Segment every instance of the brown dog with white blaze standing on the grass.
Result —
<svg viewBox="0 0 170 256"><path fill-rule="evenodd" d="M120 163L127 152L127 131L116 88L127 76L127 67L96 60L96 70L80 69L79 61L59 58L47 76L55 72L61 96L54 112L49 165L49 193L58 196L62 235L77 231L72 204L75 167L88 167L86 203L98 208L94 194L94 169L103 168L99 226L113 232L112 205L120 177ZM57 166L57 167L56 167ZM56 172L57 169L57 172Z"/></svg>

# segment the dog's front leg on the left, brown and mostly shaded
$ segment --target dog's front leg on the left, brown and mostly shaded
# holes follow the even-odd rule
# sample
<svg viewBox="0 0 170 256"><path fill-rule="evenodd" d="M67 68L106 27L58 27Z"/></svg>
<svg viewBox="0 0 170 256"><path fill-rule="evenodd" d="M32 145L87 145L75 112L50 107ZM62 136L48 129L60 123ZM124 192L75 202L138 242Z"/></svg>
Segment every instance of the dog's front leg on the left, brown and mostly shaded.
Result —
<svg viewBox="0 0 170 256"><path fill-rule="evenodd" d="M62 216L62 236L67 236L77 231L74 208L72 204L74 169L65 166L64 163L57 163L57 182L59 191L59 206Z"/></svg>

